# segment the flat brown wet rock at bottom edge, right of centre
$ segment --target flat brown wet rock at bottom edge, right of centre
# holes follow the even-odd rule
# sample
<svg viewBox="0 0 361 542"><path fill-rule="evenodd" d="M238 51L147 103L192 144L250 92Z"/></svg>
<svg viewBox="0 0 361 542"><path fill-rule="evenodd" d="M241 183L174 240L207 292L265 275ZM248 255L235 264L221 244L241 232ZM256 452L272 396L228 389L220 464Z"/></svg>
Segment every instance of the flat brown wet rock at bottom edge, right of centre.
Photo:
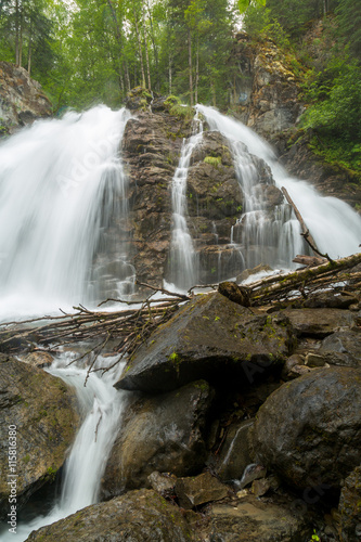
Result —
<svg viewBox="0 0 361 542"><path fill-rule="evenodd" d="M305 542L308 519L288 502L265 503L246 495L236 505L214 504L207 514L212 542Z"/></svg>

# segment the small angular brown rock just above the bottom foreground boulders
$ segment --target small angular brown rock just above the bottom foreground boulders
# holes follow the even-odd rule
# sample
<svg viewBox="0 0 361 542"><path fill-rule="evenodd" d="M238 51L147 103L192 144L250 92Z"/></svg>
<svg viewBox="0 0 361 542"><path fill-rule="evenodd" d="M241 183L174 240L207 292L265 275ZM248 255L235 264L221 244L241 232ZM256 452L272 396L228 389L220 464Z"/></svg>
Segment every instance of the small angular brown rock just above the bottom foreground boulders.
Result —
<svg viewBox="0 0 361 542"><path fill-rule="evenodd" d="M210 501L220 501L229 493L228 486L221 483L210 473L192 478L179 478L176 494L182 508L195 508Z"/></svg>

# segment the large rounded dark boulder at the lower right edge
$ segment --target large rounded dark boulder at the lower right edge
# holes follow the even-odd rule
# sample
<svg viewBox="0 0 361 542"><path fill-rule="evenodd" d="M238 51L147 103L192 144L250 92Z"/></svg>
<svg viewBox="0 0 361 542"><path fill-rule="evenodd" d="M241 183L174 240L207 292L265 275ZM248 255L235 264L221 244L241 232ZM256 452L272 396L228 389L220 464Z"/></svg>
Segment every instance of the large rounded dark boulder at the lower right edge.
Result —
<svg viewBox="0 0 361 542"><path fill-rule="evenodd" d="M284 384L259 409L255 460L299 489L338 489L361 461L361 372L315 369Z"/></svg>

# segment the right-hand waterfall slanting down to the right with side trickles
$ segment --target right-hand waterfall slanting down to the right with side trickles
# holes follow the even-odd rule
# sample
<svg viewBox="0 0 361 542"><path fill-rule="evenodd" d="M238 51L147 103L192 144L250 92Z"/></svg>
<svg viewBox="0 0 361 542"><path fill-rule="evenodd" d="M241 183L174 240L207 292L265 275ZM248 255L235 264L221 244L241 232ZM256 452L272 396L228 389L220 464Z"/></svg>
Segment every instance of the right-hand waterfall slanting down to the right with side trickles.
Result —
<svg viewBox="0 0 361 542"><path fill-rule="evenodd" d="M243 222L242 238L233 238L233 242L242 243L243 248L252 245L246 257L247 267L262 262L291 268L296 254L305 253L305 245L299 235L299 223L289 205L279 205L271 217L266 212L265 202L257 194L258 181L252 157L245 153L243 145L269 165L279 189L285 186L321 251L328 253L332 258L358 251L361 218L349 205L334 197L322 197L307 182L289 178L278 163L271 146L242 122L221 115L212 107L197 105L196 108L210 129L222 132L232 146L246 206L238 219L240 224Z"/></svg>

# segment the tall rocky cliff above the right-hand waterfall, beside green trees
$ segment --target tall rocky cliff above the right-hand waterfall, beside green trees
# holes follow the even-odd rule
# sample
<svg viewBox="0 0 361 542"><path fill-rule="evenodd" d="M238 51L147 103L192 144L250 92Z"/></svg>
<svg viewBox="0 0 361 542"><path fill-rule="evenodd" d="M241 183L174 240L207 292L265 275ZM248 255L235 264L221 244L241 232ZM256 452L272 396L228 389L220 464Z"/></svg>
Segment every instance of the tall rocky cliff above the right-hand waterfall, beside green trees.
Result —
<svg viewBox="0 0 361 542"><path fill-rule="evenodd" d="M322 23L318 23L312 31L313 38L320 37ZM314 42L310 36L309 54L317 63L321 52ZM309 180L323 195L338 197L353 207L359 204L361 188L352 173L325 164L314 155L309 146L309 134L299 130L305 105L301 81L295 74L292 57L270 39L255 42L247 34L240 33L232 59L238 65L231 95L231 109L235 116L273 143L292 175Z"/></svg>

